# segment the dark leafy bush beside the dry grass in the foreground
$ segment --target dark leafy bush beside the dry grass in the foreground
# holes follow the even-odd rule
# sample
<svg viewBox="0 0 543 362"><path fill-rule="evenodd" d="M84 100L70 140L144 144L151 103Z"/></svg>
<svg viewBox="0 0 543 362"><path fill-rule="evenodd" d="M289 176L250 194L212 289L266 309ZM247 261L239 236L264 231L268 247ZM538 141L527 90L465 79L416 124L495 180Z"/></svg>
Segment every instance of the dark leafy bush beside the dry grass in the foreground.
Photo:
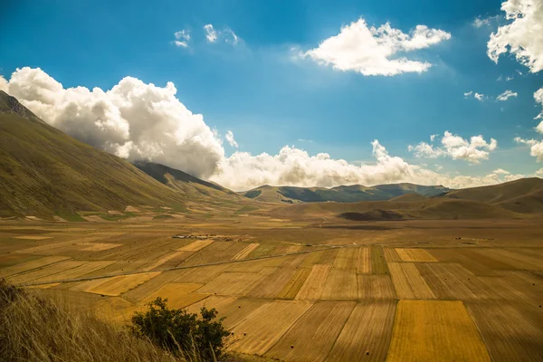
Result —
<svg viewBox="0 0 543 362"><path fill-rule="evenodd" d="M230 333L223 327L223 319L216 319L217 311L200 310L196 313L167 308L167 299L160 297L148 303L148 310L135 312L130 329L140 338L185 357L187 360L217 360L223 354L224 338Z"/></svg>

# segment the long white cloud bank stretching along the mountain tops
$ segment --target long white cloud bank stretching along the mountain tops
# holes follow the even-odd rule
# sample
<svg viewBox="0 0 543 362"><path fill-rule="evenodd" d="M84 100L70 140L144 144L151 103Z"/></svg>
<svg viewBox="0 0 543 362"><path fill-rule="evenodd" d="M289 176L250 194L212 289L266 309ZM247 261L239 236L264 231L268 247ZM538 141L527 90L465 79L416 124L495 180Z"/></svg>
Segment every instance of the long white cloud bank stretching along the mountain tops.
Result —
<svg viewBox="0 0 543 362"><path fill-rule="evenodd" d="M311 156L288 146L277 155L236 151L225 157L216 130L176 99L176 87L171 82L158 87L127 77L111 90L65 89L44 71L23 68L14 71L7 84L0 84L37 116L72 137L120 157L150 159L233 190L263 184L371 186L397 182L458 188L503 181L496 174L455 176L411 165L401 157L390 156L377 140L372 142L374 161L369 164L354 165L326 153ZM451 148L462 148L465 142L460 138ZM484 144L495 148L482 138L472 138L469 146Z"/></svg>

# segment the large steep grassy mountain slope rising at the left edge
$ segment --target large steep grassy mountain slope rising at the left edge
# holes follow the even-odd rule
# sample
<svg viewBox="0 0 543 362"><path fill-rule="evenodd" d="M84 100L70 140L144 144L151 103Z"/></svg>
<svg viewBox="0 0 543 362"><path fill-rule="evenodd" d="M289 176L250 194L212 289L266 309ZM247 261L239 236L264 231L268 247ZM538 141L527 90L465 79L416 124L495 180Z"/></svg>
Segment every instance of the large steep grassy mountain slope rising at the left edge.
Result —
<svg viewBox="0 0 543 362"><path fill-rule="evenodd" d="M179 186L182 177L177 187L167 186L129 162L52 128L4 91L0 160L0 216L124 211L128 205L184 209L192 195ZM221 189L196 180L192 177L188 184L197 184L202 192Z"/></svg>

